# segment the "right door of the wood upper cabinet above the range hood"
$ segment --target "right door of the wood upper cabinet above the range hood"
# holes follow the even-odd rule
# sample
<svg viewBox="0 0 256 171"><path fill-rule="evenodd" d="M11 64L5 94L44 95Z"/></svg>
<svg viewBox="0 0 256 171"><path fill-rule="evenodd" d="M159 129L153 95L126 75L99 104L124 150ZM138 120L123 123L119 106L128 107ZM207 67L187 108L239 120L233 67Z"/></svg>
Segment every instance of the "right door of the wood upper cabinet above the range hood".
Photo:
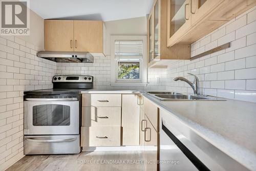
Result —
<svg viewBox="0 0 256 171"><path fill-rule="evenodd" d="M103 53L103 22L74 20L74 51Z"/></svg>

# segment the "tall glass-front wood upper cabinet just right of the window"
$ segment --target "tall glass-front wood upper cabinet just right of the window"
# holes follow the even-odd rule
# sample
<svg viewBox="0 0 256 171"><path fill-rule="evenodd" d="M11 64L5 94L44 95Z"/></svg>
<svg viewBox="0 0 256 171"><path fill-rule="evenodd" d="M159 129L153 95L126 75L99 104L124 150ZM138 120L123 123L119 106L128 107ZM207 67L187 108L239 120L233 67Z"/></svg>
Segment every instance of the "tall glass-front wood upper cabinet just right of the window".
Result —
<svg viewBox="0 0 256 171"><path fill-rule="evenodd" d="M167 1L155 0L148 15L148 67L166 68L166 59L189 59L190 45L167 48Z"/></svg>

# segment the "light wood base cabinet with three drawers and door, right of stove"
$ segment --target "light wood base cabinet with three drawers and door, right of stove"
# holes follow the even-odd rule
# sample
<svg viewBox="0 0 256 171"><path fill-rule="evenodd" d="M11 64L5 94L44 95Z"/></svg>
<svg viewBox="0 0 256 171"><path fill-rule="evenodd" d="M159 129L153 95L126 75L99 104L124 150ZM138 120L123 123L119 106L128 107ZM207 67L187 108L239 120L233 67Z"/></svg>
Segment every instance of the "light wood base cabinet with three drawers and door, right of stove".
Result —
<svg viewBox="0 0 256 171"><path fill-rule="evenodd" d="M139 145L139 94L83 94L81 146Z"/></svg>

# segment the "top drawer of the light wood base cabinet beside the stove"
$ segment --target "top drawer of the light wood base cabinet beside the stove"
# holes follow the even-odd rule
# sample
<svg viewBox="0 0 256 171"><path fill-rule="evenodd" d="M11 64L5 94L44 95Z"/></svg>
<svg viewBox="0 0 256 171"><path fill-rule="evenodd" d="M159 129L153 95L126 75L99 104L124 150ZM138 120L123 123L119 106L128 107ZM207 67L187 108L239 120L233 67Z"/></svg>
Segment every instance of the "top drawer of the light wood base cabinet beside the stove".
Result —
<svg viewBox="0 0 256 171"><path fill-rule="evenodd" d="M83 94L82 106L121 107L121 94Z"/></svg>

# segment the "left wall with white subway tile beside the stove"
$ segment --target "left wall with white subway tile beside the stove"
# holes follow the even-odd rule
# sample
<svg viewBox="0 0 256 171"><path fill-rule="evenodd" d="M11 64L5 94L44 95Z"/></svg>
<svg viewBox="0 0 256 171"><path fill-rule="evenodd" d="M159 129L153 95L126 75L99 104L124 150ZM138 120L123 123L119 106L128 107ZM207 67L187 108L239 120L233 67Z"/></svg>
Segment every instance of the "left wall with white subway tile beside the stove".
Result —
<svg viewBox="0 0 256 171"><path fill-rule="evenodd" d="M43 19L31 11L30 36L0 37L0 170L23 155L23 92L52 88L56 63L36 57L44 48Z"/></svg>

